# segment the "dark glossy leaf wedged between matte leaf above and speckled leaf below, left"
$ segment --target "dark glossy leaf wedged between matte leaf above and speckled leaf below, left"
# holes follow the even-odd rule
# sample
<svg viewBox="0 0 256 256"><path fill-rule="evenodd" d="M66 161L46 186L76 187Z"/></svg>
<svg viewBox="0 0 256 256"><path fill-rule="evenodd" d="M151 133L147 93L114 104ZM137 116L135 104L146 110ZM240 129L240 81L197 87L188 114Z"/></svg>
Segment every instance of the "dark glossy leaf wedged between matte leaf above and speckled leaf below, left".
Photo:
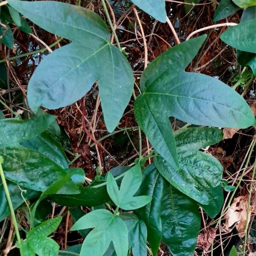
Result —
<svg viewBox="0 0 256 256"><path fill-rule="evenodd" d="M59 143L50 133L43 132L38 137L20 143L23 147L34 149L41 154L49 157L62 168L68 168L67 157Z"/></svg>

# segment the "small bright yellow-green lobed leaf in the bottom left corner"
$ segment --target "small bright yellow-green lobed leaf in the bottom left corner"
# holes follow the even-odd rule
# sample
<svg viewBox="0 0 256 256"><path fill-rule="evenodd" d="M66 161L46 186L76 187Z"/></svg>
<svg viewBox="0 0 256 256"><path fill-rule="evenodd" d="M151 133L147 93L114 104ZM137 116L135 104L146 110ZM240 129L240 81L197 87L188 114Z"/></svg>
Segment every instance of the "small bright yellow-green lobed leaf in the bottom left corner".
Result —
<svg viewBox="0 0 256 256"><path fill-rule="evenodd" d="M44 221L26 235L29 246L38 256L58 256L59 245L49 236L60 224L62 217Z"/></svg>

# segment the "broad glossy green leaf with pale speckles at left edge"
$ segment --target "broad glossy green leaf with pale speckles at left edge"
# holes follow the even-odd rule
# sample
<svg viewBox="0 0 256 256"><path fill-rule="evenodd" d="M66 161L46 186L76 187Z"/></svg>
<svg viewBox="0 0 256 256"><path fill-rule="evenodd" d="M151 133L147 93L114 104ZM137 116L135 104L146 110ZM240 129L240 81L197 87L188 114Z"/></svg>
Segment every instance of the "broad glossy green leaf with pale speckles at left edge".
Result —
<svg viewBox="0 0 256 256"><path fill-rule="evenodd" d="M6 179L28 189L44 191L66 175L64 169L38 151L23 147L0 149Z"/></svg>

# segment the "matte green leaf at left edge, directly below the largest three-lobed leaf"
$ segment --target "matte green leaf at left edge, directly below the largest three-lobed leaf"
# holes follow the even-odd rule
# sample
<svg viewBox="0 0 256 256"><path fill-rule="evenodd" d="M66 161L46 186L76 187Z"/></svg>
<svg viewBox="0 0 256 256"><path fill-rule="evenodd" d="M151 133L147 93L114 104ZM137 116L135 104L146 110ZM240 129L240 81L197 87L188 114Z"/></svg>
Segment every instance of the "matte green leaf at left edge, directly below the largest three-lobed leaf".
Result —
<svg viewBox="0 0 256 256"><path fill-rule="evenodd" d="M15 145L38 136L54 122L56 116L38 114L30 119L8 118L0 120L0 147Z"/></svg>

